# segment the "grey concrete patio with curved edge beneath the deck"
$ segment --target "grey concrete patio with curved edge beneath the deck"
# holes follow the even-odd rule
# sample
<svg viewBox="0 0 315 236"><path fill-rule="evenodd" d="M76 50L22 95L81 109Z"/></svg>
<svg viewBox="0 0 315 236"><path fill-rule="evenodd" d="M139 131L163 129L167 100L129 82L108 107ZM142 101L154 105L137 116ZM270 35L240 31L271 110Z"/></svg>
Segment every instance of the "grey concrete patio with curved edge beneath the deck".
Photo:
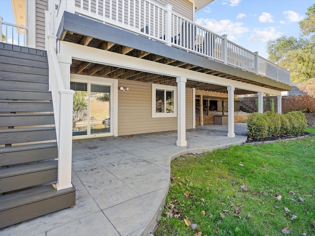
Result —
<svg viewBox="0 0 315 236"><path fill-rule="evenodd" d="M246 124L245 124L246 125ZM177 131L73 141L72 184L76 205L0 229L1 236L147 236L167 195L172 158L246 142L223 125L187 130L187 147Z"/></svg>

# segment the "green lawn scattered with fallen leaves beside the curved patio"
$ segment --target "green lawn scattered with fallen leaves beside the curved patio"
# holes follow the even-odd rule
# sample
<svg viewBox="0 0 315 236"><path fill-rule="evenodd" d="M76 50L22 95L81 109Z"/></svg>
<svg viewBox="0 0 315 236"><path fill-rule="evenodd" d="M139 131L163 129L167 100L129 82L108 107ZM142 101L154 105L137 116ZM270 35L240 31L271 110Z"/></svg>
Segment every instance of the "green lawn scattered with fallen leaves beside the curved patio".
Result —
<svg viewBox="0 0 315 236"><path fill-rule="evenodd" d="M155 236L315 235L315 136L181 156L171 178Z"/></svg>

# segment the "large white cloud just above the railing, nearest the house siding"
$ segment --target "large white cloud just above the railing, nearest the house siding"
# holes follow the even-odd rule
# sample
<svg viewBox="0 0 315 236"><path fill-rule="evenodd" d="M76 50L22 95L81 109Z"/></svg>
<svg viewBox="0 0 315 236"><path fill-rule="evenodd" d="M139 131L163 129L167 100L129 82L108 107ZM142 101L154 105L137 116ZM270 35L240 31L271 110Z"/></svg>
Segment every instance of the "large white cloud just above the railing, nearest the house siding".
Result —
<svg viewBox="0 0 315 236"><path fill-rule="evenodd" d="M228 39L235 40L236 36L249 31L242 22L232 22L230 20L217 21L214 19L199 18L196 23L218 34L227 34Z"/></svg>

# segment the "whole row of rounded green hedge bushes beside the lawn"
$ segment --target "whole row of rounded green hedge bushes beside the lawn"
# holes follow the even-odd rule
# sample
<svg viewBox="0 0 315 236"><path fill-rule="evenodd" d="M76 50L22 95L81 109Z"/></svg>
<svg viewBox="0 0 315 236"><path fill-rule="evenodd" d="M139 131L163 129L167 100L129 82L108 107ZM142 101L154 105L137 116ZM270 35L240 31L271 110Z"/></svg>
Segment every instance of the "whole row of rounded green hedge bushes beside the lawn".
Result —
<svg viewBox="0 0 315 236"><path fill-rule="evenodd" d="M303 133L307 127L307 121L302 112L289 112L287 114L255 112L248 116L247 127L249 138L262 139L281 134Z"/></svg>

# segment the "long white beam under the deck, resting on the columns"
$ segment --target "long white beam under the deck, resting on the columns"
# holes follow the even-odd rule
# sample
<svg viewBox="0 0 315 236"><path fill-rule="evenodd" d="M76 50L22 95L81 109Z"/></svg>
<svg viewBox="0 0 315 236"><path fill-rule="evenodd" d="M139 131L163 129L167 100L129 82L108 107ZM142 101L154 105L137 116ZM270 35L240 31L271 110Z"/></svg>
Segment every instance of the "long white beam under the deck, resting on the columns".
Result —
<svg viewBox="0 0 315 236"><path fill-rule="evenodd" d="M158 75L166 75L171 77L187 77L188 79L193 81L220 85L224 87L233 86L238 89L244 89L253 92L264 92L274 95L281 95L281 91L278 90L267 89L256 85L246 84L240 81L229 80L214 75L184 69L181 67L175 67L167 64L161 64L155 61L134 58L131 56L113 53L101 49L86 47L80 44L61 41L59 46L60 53L70 55L73 59L154 73Z"/></svg>

